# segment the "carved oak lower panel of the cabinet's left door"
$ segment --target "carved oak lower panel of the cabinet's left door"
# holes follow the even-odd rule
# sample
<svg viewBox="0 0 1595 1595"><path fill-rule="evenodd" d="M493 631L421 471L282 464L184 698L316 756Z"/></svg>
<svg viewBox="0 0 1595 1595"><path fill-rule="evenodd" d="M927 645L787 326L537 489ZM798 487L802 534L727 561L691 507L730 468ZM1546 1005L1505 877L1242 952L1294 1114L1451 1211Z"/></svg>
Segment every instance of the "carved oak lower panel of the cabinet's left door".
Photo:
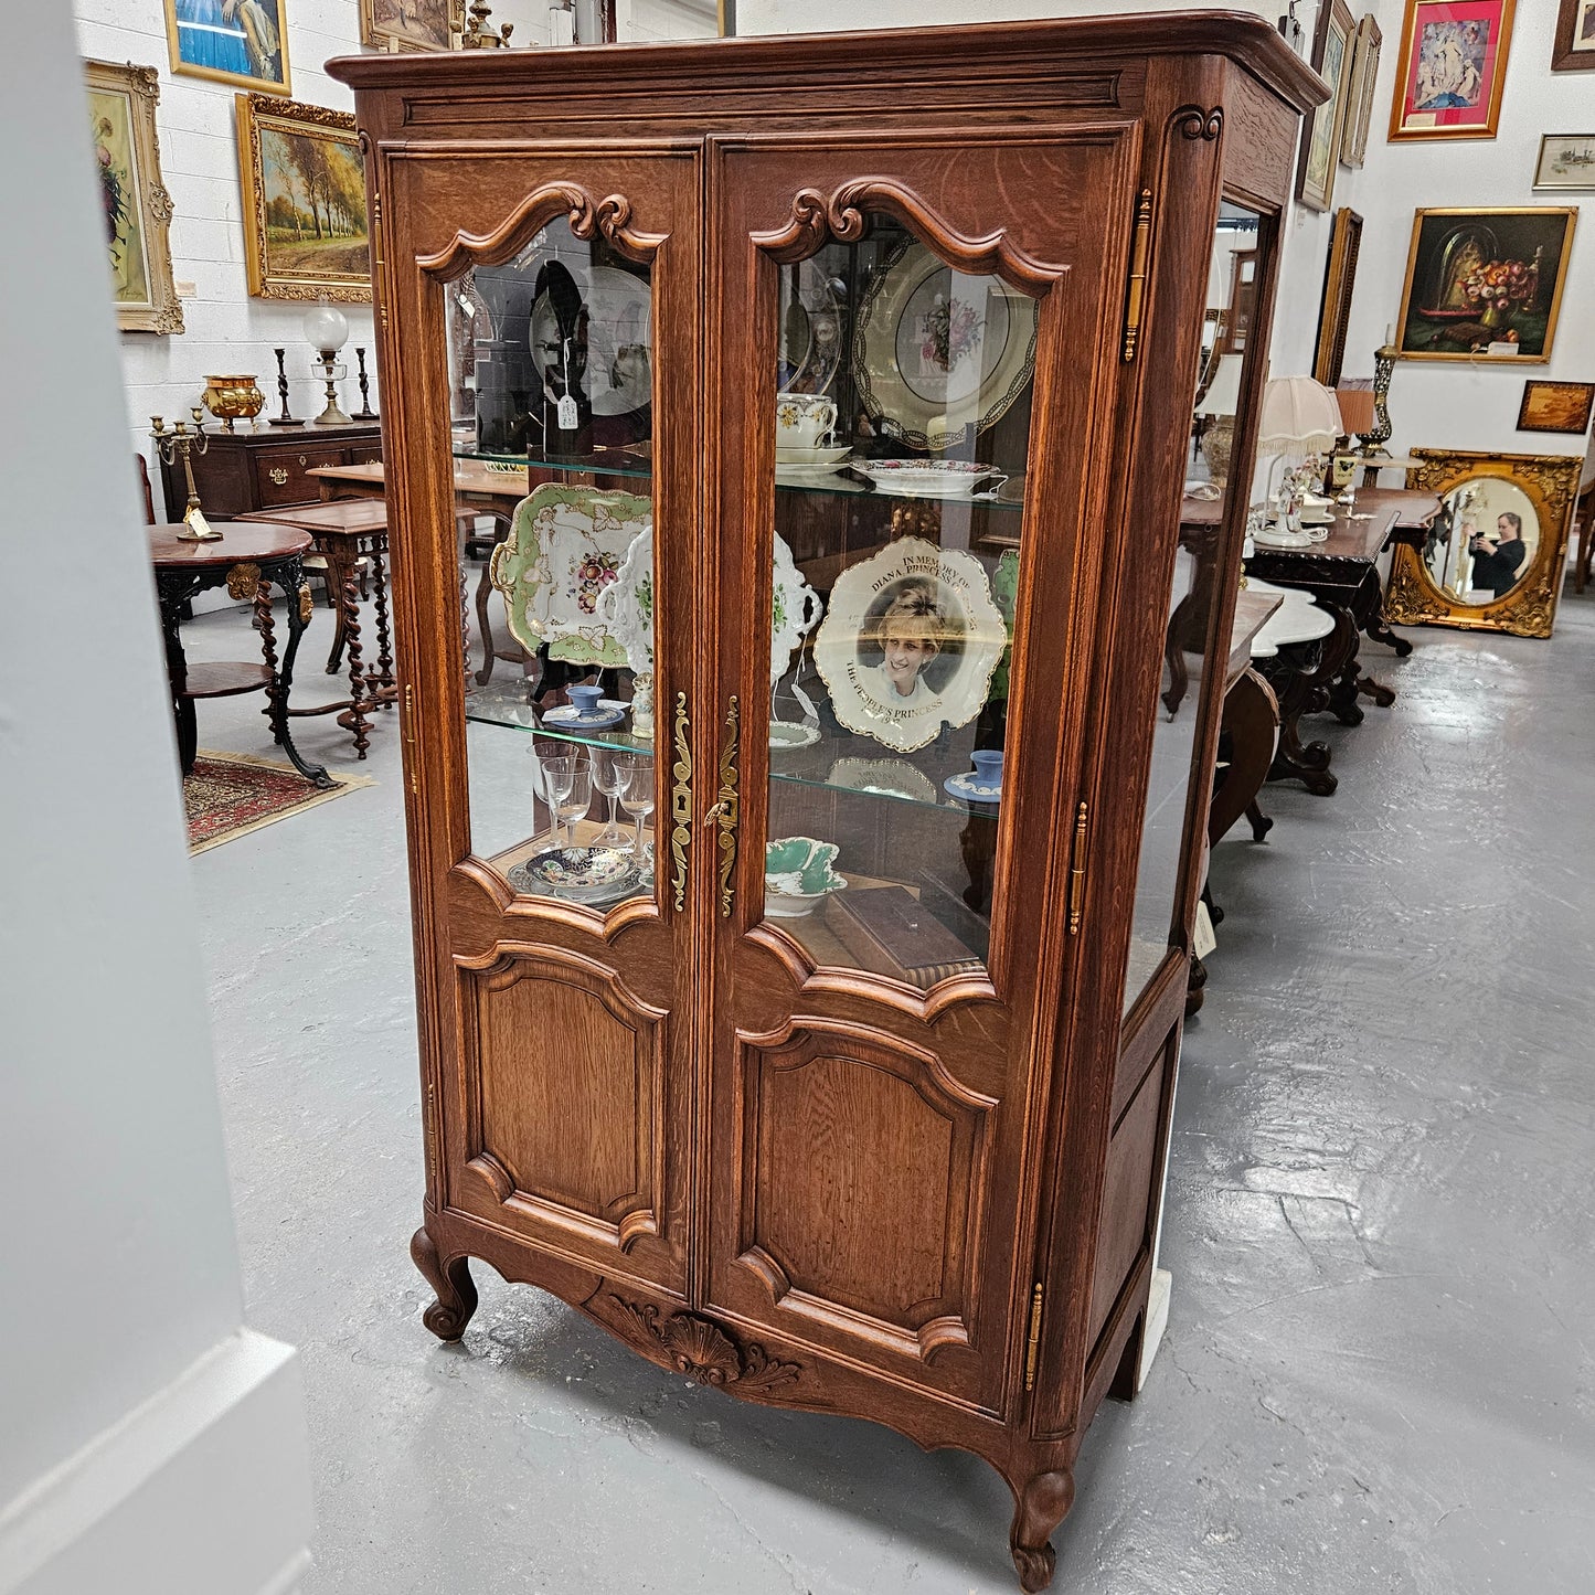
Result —
<svg viewBox="0 0 1595 1595"><path fill-rule="evenodd" d="M507 957L467 975L467 1171L518 1217L630 1247L659 1233L662 1013L605 975Z"/></svg>

